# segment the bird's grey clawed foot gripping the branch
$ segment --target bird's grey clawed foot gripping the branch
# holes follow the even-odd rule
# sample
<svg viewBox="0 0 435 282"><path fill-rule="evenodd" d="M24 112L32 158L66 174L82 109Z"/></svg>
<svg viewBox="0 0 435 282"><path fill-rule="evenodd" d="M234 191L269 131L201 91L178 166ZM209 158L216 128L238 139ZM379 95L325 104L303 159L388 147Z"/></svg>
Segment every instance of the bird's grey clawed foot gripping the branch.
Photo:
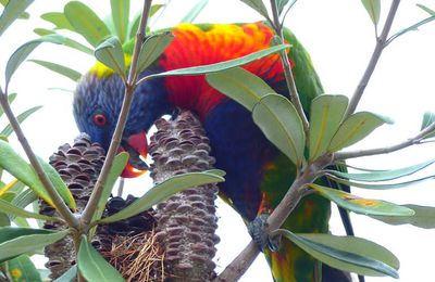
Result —
<svg viewBox="0 0 435 282"><path fill-rule="evenodd" d="M260 214L248 225L248 231L253 242L261 252L268 246L272 252L276 252L279 248L281 238L271 238L268 232L268 218L269 214Z"/></svg>

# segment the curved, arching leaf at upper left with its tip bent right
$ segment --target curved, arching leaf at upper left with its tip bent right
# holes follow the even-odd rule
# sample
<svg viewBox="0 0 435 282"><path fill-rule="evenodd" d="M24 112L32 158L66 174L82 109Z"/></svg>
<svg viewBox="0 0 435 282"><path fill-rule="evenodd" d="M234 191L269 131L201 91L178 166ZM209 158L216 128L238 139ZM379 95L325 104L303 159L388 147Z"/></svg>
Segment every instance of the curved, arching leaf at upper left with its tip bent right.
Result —
<svg viewBox="0 0 435 282"><path fill-rule="evenodd" d="M13 1L14 2L14 1ZM20 2L20 1L17 1ZM26 60L26 57L37 48L40 43L42 42L50 42L50 43L57 43L61 44L63 43L64 38L60 35L47 35L42 36L38 39L34 39L32 41L28 41L24 44L22 44L16 51L11 55L11 57L8 60L7 64L7 69L5 69L5 81L7 85L9 84L12 75L15 73L15 70L18 68L21 63Z"/></svg>

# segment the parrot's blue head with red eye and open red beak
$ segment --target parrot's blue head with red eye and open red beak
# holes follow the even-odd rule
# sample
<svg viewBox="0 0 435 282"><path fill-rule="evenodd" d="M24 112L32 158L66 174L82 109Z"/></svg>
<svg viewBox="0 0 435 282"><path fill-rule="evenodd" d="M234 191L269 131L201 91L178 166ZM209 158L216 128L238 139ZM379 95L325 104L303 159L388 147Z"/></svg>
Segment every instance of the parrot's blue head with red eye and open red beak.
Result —
<svg viewBox="0 0 435 282"><path fill-rule="evenodd" d="M73 112L78 129L105 150L116 127L124 89L120 76L91 70L82 78L74 94ZM120 148L129 154L122 177L137 177L146 171L147 164L142 161L148 153L146 133L156 119L171 111L166 97L163 82L159 79L136 88Z"/></svg>

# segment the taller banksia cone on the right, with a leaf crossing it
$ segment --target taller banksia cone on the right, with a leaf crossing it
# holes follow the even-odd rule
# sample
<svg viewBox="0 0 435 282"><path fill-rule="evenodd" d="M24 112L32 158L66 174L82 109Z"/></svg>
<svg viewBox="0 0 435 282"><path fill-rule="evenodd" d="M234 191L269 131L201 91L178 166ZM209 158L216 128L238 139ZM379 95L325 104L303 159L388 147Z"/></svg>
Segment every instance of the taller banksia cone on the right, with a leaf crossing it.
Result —
<svg viewBox="0 0 435 282"><path fill-rule="evenodd" d="M154 161L151 177L159 183L167 178L211 169L209 139L198 119L182 112L175 120L159 119L151 137ZM209 281L214 275L214 245L217 218L216 184L194 187L170 197L157 208L157 240L165 252L166 275L171 281Z"/></svg>

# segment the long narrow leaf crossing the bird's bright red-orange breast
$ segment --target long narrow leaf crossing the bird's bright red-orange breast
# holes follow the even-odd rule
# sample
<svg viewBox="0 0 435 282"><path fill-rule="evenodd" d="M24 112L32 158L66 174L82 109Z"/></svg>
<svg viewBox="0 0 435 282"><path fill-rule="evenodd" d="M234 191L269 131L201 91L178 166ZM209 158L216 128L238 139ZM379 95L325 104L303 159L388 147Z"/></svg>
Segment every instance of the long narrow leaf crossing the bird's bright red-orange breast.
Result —
<svg viewBox="0 0 435 282"><path fill-rule="evenodd" d="M185 67L185 68L167 70L167 72L163 72L163 73L159 73L159 74L153 74L153 75L148 76L147 79L154 78L154 77L163 77L163 76L188 76L188 75L201 75L201 74L216 73L216 72L225 70L225 69L233 68L236 66L246 65L252 61L256 61L256 60L259 60L266 55L279 52L289 47L290 47L289 44L274 46L274 47L271 47L271 48L268 48L268 49L264 49L261 51L257 51L257 52L250 53L248 55L240 56L238 59L228 60L228 61L225 61L222 63Z"/></svg>

